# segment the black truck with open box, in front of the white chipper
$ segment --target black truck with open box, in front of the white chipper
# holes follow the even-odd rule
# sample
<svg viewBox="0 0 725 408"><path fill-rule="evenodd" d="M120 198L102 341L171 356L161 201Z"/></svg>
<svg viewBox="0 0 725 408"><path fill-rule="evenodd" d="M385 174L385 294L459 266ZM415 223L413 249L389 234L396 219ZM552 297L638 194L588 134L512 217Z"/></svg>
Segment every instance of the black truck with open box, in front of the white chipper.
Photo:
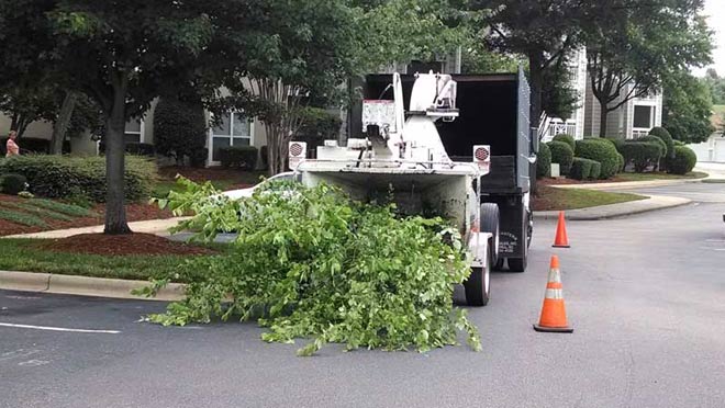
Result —
<svg viewBox="0 0 725 408"><path fill-rule="evenodd" d="M507 259L512 271L526 268L532 234L528 194L535 169L536 135L529 128L529 90L522 71L517 73L454 75L460 111L454 122L438 121L438 133L448 156L471 161L473 145L491 146L491 169L481 178L481 202L499 205L499 259ZM415 80L401 76L405 106ZM370 75L362 86L365 99L393 99L390 75ZM357 133L356 133L357 132ZM360 116L350 115L350 137L360 137ZM501 261L500 261L501 262ZM501 268L501 264L499 264Z"/></svg>

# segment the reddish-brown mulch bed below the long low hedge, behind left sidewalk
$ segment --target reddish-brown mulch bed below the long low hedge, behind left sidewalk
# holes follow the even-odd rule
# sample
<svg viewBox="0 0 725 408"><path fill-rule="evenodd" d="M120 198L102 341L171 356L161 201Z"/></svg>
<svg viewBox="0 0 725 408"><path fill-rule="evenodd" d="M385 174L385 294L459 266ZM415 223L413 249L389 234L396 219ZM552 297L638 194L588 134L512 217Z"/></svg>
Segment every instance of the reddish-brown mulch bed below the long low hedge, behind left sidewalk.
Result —
<svg viewBox="0 0 725 408"><path fill-rule="evenodd" d="M14 195L0 194L0 202L22 202L25 199L21 199ZM18 208L7 209L23 212ZM32 227L11 223L5 219L0 219L0 236L15 235L15 234L31 234L40 233L52 229L65 229L65 228L78 228L78 227L91 227L94 225L101 225L104 222L105 206L104 204L97 204L91 208L92 212L97 213L96 217L79 217L74 218L72 220L59 220L52 218L44 218L43 220L48 225L47 228L43 227ZM159 219L159 218L170 218L174 215L168 209L159 209L156 205L149 205L146 203L133 203L126 204L126 219L129 222L137 220L147 220L147 219Z"/></svg>

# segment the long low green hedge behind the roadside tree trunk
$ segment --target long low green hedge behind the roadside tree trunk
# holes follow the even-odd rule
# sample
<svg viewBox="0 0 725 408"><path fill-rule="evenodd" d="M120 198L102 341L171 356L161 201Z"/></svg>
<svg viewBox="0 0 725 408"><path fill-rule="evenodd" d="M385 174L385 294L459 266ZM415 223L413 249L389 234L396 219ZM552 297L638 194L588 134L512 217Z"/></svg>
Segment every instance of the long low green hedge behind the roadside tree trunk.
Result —
<svg viewBox="0 0 725 408"><path fill-rule="evenodd" d="M105 202L105 158L57 155L13 156L0 161L0 173L18 173L27 178L30 191L48 199L82 195ZM126 156L125 196L129 201L146 200L156 180L156 165L140 156Z"/></svg>

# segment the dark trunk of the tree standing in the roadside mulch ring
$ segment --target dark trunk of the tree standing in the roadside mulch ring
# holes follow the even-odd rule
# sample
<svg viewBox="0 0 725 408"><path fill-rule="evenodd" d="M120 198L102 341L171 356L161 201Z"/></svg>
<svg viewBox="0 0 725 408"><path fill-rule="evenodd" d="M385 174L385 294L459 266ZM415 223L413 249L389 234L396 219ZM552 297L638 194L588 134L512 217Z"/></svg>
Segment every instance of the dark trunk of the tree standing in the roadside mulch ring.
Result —
<svg viewBox="0 0 725 408"><path fill-rule="evenodd" d="M131 234L124 206L125 84L114 87L113 107L105 120L105 228L104 234Z"/></svg>

